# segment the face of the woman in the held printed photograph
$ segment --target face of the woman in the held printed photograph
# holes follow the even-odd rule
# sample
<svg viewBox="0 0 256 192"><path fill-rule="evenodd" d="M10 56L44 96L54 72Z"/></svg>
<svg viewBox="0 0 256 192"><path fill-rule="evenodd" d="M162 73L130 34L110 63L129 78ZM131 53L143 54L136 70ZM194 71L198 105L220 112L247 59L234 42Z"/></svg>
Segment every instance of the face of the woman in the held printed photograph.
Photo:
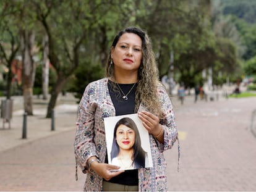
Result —
<svg viewBox="0 0 256 192"><path fill-rule="evenodd" d="M119 125L116 130L116 142L119 148L129 150L134 146L135 133L134 130L126 125Z"/></svg>

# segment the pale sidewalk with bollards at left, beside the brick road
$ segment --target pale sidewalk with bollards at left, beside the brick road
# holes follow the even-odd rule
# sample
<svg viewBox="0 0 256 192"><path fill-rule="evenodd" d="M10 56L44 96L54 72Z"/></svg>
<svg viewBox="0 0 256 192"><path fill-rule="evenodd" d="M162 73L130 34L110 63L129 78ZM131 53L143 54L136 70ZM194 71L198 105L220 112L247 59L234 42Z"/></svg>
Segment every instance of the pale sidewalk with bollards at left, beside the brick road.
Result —
<svg viewBox="0 0 256 192"><path fill-rule="evenodd" d="M1 98L6 99L6 98ZM60 95L56 108L54 109L54 129L51 131L51 119L46 119L46 109L48 100L43 100L34 96L33 98L33 116L27 116L26 139L22 139L23 133L23 97L14 96L13 114L11 119L11 129L9 123L4 123L0 119L0 151L29 143L38 138L61 133L62 131L74 130L77 114L77 99L70 93L66 96Z"/></svg>

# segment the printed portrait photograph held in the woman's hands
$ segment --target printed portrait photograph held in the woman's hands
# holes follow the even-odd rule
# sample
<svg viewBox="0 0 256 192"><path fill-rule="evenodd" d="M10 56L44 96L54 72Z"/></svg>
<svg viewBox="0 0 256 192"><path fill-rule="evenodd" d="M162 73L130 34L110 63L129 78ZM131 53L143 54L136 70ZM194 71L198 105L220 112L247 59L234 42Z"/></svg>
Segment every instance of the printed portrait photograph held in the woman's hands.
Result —
<svg viewBox="0 0 256 192"><path fill-rule="evenodd" d="M138 114L106 117L104 123L109 164L119 170L153 166L148 131Z"/></svg>

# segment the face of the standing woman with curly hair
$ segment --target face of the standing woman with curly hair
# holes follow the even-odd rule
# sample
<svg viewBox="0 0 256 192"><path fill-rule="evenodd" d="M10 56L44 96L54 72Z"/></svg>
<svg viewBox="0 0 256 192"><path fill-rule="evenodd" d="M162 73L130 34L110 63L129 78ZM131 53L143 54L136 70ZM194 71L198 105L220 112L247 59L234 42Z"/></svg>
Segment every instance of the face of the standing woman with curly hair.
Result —
<svg viewBox="0 0 256 192"><path fill-rule="evenodd" d="M115 70L137 72L142 61L142 40L134 33L124 33L111 49Z"/></svg>

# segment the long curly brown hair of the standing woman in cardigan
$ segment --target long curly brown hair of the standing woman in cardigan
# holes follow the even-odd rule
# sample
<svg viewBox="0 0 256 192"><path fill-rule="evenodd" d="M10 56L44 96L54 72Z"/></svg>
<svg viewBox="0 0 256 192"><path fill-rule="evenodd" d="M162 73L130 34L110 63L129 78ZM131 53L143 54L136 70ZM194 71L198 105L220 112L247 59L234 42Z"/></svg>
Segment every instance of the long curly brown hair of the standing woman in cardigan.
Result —
<svg viewBox="0 0 256 192"><path fill-rule="evenodd" d="M151 40L147 33L137 27L128 27L121 30L114 38L112 47L115 48L119 38L124 33L134 33L142 40L142 62L139 67L138 85L135 94L135 112L138 111L140 103L147 107L147 110L159 118L162 116L160 101L158 99L157 87L159 86L159 72L156 65L155 54L152 49ZM105 76L114 79L114 65L111 64L111 51L105 65ZM114 88L118 91L117 88Z"/></svg>

